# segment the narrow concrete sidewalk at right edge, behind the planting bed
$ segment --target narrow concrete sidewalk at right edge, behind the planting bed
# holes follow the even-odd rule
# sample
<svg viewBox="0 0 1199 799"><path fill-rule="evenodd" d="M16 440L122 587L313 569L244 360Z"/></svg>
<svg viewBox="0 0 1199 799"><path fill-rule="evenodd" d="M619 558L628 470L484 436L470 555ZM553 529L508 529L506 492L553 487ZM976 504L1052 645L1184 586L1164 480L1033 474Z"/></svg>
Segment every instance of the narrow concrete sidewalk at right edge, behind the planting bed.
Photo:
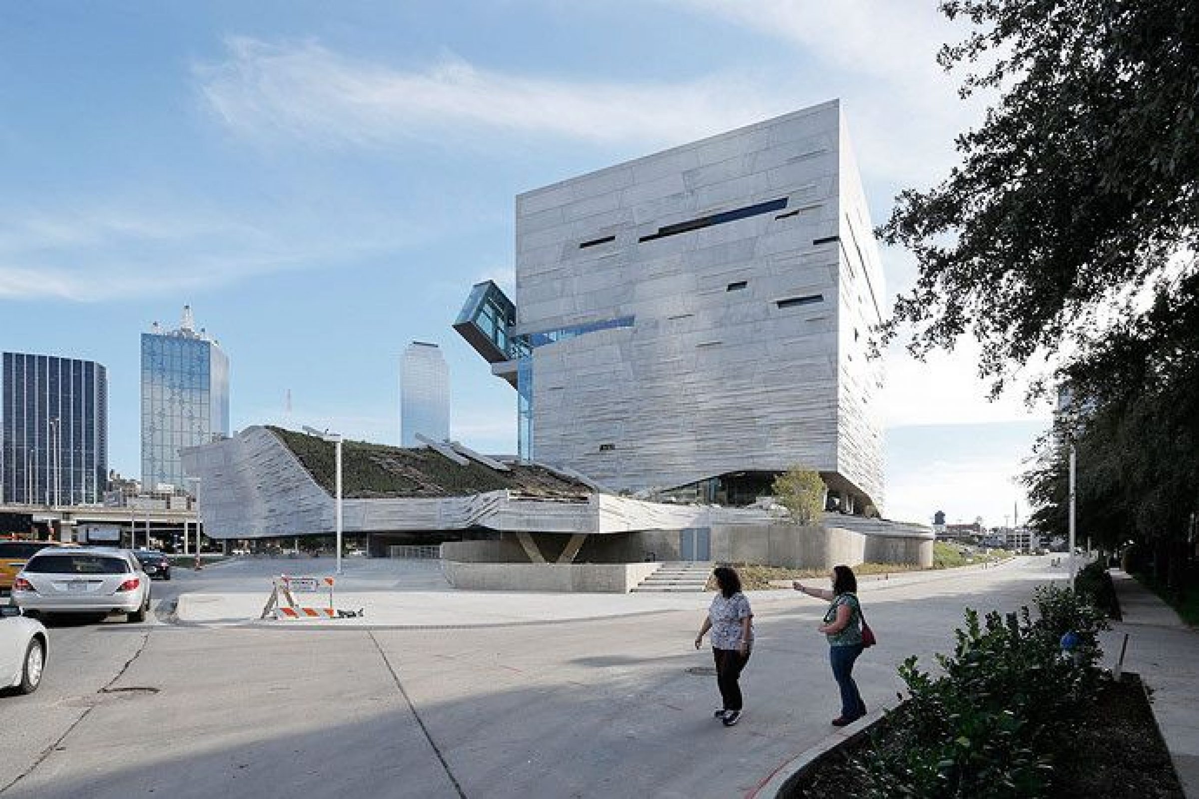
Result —
<svg viewBox="0 0 1199 799"><path fill-rule="evenodd" d="M1103 636L1107 662L1115 665L1127 632L1123 668L1140 673L1152 689L1153 715L1179 780L1188 797L1199 799L1199 631L1123 571L1111 569L1111 580L1123 621Z"/></svg>

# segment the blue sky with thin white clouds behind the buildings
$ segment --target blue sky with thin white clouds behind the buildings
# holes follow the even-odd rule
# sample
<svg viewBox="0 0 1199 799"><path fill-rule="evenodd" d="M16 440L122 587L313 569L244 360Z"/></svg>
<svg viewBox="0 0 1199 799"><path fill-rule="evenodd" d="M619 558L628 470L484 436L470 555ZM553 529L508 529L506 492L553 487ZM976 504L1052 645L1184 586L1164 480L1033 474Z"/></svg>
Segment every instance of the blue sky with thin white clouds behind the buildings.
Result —
<svg viewBox="0 0 1199 799"><path fill-rule="evenodd" d="M452 434L511 452L514 393L450 323L511 284L517 193L840 97L878 223L975 119L933 61L954 36L898 0L5 4L0 349L108 367L126 474L138 335L185 303L229 355L235 429L398 441L420 339ZM1044 412L986 402L970 346L887 368L888 515L1001 522Z"/></svg>

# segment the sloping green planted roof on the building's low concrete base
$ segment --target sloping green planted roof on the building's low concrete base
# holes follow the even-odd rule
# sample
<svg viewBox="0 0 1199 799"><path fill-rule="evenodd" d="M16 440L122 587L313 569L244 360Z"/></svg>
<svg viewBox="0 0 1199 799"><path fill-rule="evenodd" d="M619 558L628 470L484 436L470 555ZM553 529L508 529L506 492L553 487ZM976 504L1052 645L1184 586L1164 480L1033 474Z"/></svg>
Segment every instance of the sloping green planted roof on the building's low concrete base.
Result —
<svg viewBox="0 0 1199 799"><path fill-rule="evenodd" d="M290 449L317 483L336 491L333 444L319 436L267 426ZM456 497L508 490L536 497L580 497L591 494L583 483L541 466L507 464L500 472L471 460L456 464L430 448L402 448L366 441L342 444L342 496L350 500L397 497Z"/></svg>

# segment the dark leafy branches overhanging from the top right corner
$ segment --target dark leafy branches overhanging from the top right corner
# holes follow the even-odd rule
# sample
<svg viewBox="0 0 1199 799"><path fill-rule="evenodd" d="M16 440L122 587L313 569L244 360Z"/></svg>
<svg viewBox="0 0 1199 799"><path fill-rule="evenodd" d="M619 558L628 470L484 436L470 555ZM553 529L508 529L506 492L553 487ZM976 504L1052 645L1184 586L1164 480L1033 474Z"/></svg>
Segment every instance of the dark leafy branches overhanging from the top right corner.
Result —
<svg viewBox="0 0 1199 799"><path fill-rule="evenodd" d="M957 139L959 167L903 192L884 241L917 259L887 338L920 355L962 334L981 370L1089 349L1152 302L1197 302L1199 5L1189 0L946 0L974 24L938 56L996 102ZM986 62L986 65L984 65ZM969 71L974 69L974 71ZM1152 344L1152 340L1147 340Z"/></svg>

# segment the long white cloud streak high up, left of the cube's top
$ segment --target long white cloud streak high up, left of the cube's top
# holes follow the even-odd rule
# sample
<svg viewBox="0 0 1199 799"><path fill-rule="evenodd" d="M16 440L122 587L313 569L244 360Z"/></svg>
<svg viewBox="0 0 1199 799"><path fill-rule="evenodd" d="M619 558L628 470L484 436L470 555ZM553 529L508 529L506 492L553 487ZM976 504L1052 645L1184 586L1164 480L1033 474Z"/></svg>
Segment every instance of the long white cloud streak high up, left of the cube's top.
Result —
<svg viewBox="0 0 1199 799"><path fill-rule="evenodd" d="M207 105L251 139L393 147L516 133L591 143L681 143L789 110L748 78L627 85L570 81L442 59L402 71L318 42L227 40L228 57L194 68Z"/></svg>

